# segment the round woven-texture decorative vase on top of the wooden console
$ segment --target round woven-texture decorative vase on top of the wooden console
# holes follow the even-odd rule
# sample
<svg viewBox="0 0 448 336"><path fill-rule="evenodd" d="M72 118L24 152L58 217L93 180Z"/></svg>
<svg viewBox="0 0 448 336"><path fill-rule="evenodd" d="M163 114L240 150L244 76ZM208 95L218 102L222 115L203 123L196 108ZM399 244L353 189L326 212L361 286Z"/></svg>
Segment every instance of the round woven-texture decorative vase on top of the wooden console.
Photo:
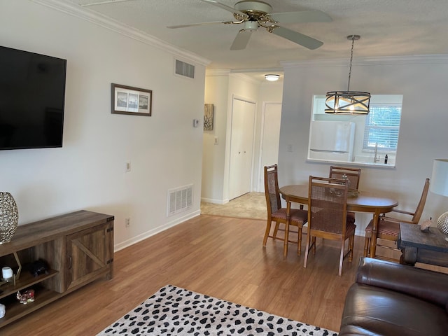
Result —
<svg viewBox="0 0 448 336"><path fill-rule="evenodd" d="M19 223L19 211L13 195L0 192L0 244L8 243Z"/></svg>

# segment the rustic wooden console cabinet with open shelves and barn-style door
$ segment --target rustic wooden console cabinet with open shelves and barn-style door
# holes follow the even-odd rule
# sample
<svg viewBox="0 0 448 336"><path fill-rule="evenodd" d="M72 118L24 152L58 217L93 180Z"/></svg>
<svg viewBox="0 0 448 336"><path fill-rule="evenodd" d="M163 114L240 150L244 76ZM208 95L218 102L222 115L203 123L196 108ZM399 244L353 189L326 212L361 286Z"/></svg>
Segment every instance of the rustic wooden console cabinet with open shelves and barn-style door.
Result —
<svg viewBox="0 0 448 336"><path fill-rule="evenodd" d="M19 225L13 239L0 245L0 269L9 266L19 279L0 286L6 315L0 328L85 284L113 276L113 216L76 211L43 221ZM27 265L45 260L48 274L34 276ZM0 273L1 277L1 273ZM16 293L34 289L35 300L20 304Z"/></svg>

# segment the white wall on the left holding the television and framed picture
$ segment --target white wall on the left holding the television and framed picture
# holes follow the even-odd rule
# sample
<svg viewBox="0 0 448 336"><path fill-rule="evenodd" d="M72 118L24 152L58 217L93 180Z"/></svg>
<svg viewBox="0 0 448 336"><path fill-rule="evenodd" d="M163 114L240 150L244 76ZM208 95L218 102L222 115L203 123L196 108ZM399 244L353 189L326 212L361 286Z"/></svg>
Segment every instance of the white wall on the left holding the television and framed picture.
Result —
<svg viewBox="0 0 448 336"><path fill-rule="evenodd" d="M179 51L196 78L174 76L174 48L73 8L2 1L1 45L67 59L67 73L64 146L0 151L0 189L15 197L20 225L78 209L114 215L123 248L200 213L202 127L193 119L204 116L207 61ZM111 114L111 83L153 90L153 116ZM167 190L189 184L193 208L167 217Z"/></svg>

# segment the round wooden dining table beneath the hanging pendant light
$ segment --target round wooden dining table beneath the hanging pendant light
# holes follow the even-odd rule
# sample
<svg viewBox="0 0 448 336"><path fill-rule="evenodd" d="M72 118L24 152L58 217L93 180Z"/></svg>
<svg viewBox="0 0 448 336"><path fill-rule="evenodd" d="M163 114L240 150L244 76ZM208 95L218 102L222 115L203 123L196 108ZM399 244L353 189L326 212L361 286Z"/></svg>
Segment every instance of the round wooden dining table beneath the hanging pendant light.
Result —
<svg viewBox="0 0 448 336"><path fill-rule="evenodd" d="M286 202L308 204L308 184L283 186L279 191ZM347 211L368 212L373 214L372 237L370 239L369 251L367 251L370 258L375 257L377 249L379 216L391 212L396 206L398 206L398 201L386 195L386 192L381 193L359 190L355 196L347 197ZM289 210L290 207L287 207L287 209ZM289 218L288 212L289 211L287 211L286 214L287 218Z"/></svg>

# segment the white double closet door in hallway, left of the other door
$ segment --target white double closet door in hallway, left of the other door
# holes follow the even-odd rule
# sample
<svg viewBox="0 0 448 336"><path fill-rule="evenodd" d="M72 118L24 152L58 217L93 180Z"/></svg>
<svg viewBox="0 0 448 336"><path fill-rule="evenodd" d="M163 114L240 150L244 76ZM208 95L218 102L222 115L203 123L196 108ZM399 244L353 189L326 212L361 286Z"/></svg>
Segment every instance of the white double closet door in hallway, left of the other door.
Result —
<svg viewBox="0 0 448 336"><path fill-rule="evenodd" d="M229 200L251 192L255 103L233 99Z"/></svg>

